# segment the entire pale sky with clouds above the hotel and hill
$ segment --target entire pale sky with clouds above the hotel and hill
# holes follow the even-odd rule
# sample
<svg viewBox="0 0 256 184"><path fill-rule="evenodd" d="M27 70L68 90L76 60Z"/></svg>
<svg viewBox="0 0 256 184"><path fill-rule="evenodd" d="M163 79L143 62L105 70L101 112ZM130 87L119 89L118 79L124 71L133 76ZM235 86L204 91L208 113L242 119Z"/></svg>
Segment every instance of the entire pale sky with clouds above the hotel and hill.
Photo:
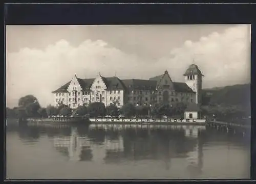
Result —
<svg viewBox="0 0 256 184"><path fill-rule="evenodd" d="M250 25L7 25L6 103L28 94L42 107L76 74L184 82L190 64L203 88L250 83Z"/></svg>

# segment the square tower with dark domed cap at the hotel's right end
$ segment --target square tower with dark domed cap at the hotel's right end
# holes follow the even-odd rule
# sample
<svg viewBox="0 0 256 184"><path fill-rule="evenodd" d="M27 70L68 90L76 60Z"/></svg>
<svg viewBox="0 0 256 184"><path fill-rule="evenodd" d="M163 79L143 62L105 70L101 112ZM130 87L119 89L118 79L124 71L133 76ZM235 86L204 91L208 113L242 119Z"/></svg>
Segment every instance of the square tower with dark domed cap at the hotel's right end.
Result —
<svg viewBox="0 0 256 184"><path fill-rule="evenodd" d="M196 92L196 103L201 104L202 77L204 75L195 64L191 64L183 75L185 76L187 86Z"/></svg>

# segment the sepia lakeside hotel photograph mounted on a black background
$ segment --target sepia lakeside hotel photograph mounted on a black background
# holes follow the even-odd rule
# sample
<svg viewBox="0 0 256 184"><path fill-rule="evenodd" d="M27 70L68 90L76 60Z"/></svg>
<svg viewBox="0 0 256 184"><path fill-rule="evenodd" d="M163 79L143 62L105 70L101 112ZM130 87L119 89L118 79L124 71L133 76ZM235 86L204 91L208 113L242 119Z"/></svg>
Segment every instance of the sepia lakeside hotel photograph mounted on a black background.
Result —
<svg viewBox="0 0 256 184"><path fill-rule="evenodd" d="M5 29L7 179L250 178L250 24Z"/></svg>

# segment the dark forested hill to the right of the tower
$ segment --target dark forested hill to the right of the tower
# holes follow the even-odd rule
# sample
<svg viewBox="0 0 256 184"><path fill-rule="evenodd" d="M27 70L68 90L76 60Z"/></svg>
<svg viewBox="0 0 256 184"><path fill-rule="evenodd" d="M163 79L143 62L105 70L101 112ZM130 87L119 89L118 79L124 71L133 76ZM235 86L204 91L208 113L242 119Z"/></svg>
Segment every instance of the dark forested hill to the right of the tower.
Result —
<svg viewBox="0 0 256 184"><path fill-rule="evenodd" d="M203 105L250 107L250 84L203 89Z"/></svg>

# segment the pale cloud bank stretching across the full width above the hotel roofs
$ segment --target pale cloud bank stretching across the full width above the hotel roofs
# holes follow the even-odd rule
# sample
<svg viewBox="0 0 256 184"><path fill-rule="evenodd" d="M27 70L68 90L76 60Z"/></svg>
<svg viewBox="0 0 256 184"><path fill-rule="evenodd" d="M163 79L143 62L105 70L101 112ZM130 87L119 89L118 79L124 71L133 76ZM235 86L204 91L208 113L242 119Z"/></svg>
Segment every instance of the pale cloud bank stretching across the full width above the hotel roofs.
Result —
<svg viewBox="0 0 256 184"><path fill-rule="evenodd" d="M6 55L7 106L27 94L35 95L42 106L53 102L51 91L71 80L104 76L120 78L149 78L165 69L173 81L184 81L183 72L193 61L205 75L204 87L245 83L249 81L249 42L246 26L212 33L198 42L187 40L180 48L160 59L141 58L127 54L103 40L84 40L74 47L67 40L59 40L45 49L22 48ZM143 43L138 43L142 44ZM159 49L159 48L155 48ZM201 55L200 55L201 54Z"/></svg>

